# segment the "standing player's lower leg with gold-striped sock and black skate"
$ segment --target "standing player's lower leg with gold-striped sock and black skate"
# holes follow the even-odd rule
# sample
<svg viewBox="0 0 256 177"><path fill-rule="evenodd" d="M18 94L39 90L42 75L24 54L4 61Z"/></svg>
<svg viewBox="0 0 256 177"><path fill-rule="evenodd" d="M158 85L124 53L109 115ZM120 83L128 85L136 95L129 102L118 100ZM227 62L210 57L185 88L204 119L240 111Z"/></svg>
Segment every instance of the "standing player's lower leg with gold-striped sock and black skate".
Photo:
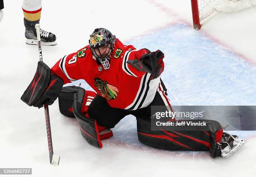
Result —
<svg viewBox="0 0 256 177"><path fill-rule="evenodd" d="M41 18L41 0L23 0L22 4L25 25L26 43L37 45L35 25ZM40 29L41 44L43 46L55 46L56 36L53 33Z"/></svg>

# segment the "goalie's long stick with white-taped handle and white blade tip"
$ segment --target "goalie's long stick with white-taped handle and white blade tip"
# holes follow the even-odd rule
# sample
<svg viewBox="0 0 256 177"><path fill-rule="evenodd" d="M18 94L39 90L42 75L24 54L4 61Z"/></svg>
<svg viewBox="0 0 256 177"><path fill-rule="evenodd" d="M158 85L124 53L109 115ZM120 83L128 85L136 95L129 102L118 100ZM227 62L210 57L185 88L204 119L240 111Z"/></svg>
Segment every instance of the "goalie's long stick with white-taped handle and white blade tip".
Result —
<svg viewBox="0 0 256 177"><path fill-rule="evenodd" d="M43 61L41 39L40 39L40 25L36 24L35 28L36 28L36 35L37 35L37 41L38 41L39 60ZM44 114L45 114L45 121L46 121L46 131L47 131L50 163L54 166L58 166L60 157L53 153L52 139L51 139L51 124L50 124L48 104L44 104Z"/></svg>

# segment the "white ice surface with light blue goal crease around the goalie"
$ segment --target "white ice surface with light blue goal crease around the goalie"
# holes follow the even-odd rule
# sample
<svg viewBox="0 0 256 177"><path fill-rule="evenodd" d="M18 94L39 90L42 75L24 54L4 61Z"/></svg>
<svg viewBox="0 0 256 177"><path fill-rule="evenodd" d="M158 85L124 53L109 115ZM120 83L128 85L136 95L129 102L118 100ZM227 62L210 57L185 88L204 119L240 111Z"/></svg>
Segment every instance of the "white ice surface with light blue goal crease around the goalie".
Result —
<svg viewBox="0 0 256 177"><path fill-rule="evenodd" d="M33 168L32 176L253 176L256 133L237 131L247 143L228 159L209 152L174 152L138 142L136 120L127 116L97 149L83 139L76 119L49 106L54 153L49 163L44 110L20 96L38 61L24 37L22 0L5 0L0 23L0 168ZM161 76L174 105L256 105L256 8L220 13L195 31L190 0L43 0L41 28L58 45L43 47L50 67L86 46L92 30L108 28L125 44L165 53ZM88 86L84 83L87 89Z"/></svg>

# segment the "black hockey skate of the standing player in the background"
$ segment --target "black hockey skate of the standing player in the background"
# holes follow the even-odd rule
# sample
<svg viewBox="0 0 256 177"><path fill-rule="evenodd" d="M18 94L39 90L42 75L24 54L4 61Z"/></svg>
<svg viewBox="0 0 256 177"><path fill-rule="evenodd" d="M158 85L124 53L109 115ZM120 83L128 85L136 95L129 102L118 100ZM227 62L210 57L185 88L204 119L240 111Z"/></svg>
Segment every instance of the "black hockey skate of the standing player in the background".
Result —
<svg viewBox="0 0 256 177"><path fill-rule="evenodd" d="M36 23L39 23L39 20L31 22L24 18L24 25L26 28L25 30L26 44L28 45L38 45L36 28L35 28ZM41 37L42 46L57 45L56 35L54 35L53 33L40 29L40 37Z"/></svg>

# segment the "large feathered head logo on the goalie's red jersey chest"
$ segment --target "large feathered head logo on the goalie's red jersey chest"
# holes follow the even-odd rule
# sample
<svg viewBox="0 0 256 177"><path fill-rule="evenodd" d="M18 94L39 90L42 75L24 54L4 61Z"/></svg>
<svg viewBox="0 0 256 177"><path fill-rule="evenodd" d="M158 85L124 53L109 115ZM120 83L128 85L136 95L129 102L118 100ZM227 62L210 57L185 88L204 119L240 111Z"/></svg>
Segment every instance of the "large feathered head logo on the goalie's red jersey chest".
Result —
<svg viewBox="0 0 256 177"><path fill-rule="evenodd" d="M100 78L94 78L94 85L99 90L100 94L108 101L116 99L118 96L118 88L110 85L107 81L102 81Z"/></svg>

